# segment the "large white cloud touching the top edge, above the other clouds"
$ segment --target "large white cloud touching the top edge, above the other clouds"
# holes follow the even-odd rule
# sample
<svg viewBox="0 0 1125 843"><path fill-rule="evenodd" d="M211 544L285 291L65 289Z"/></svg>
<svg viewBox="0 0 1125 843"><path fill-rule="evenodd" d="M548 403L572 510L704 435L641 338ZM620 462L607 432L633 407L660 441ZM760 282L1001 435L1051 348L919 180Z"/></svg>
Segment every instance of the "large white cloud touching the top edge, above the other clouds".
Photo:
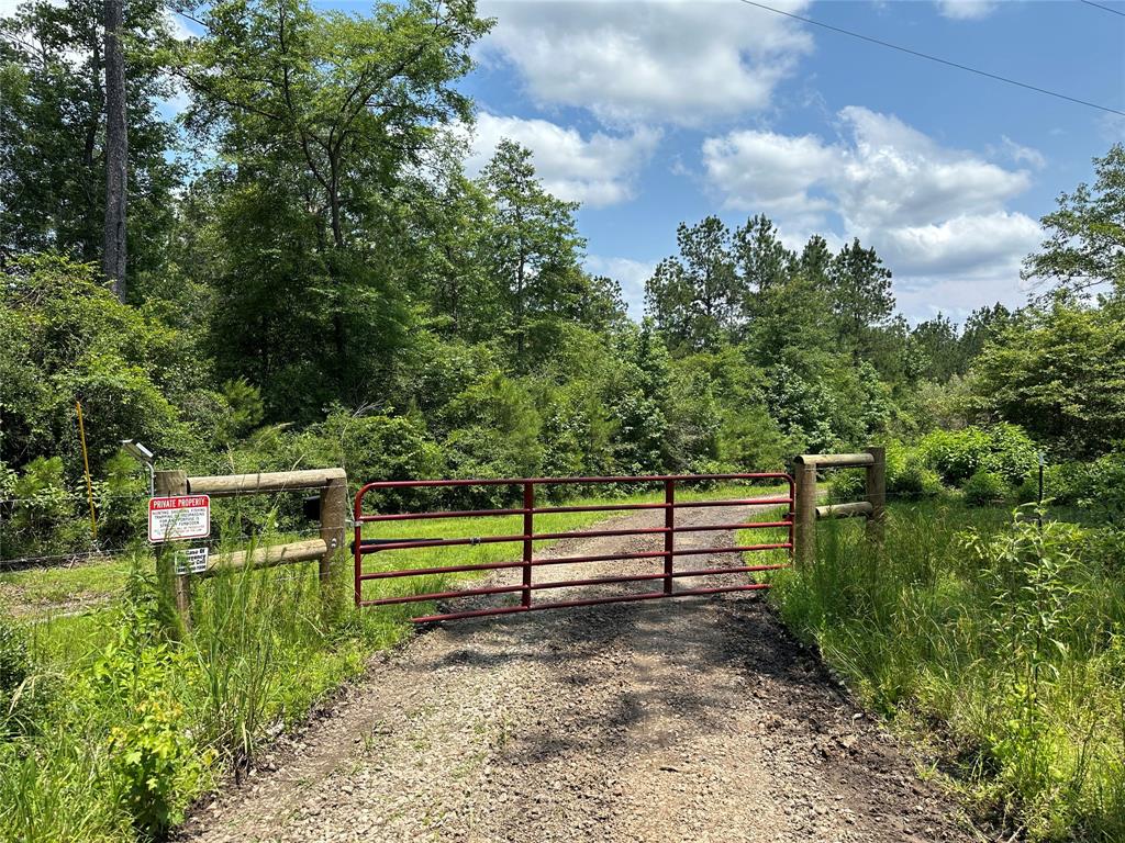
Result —
<svg viewBox="0 0 1125 843"><path fill-rule="evenodd" d="M808 0L777 0L799 11ZM556 2L482 4L498 22L479 48L511 62L532 99L603 121L699 125L762 110L812 49L794 21L741 3Z"/></svg>

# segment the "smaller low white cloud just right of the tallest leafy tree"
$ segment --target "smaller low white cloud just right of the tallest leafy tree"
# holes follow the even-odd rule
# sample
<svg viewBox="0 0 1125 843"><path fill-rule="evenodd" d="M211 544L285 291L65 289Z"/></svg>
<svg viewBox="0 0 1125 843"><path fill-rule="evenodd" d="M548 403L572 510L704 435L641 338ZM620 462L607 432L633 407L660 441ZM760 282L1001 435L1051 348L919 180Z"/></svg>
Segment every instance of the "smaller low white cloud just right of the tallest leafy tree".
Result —
<svg viewBox="0 0 1125 843"><path fill-rule="evenodd" d="M606 206L631 199L637 173L652 156L660 133L637 128L630 135L595 132L588 137L548 120L482 114L467 161L470 173L488 162L503 139L534 153L536 173L559 199Z"/></svg>

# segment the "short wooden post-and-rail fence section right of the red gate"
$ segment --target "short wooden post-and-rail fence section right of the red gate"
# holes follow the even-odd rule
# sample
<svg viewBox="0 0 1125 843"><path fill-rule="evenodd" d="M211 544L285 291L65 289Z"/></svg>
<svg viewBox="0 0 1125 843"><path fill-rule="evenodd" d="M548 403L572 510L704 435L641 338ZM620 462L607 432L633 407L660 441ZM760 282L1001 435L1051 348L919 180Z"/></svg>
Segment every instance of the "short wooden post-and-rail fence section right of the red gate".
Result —
<svg viewBox="0 0 1125 843"><path fill-rule="evenodd" d="M822 469L863 469L866 500L817 506L817 472ZM817 560L818 519L864 517L867 537L882 544L886 507L886 448L882 445L856 454L801 454L793 460L793 480L796 483L793 556L798 565Z"/></svg>

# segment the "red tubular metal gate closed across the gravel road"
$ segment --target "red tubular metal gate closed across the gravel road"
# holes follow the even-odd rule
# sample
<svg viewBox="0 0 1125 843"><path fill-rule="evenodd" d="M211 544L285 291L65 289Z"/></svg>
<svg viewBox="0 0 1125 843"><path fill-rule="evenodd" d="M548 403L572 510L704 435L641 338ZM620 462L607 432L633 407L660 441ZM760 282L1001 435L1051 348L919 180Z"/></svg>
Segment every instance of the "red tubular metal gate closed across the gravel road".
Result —
<svg viewBox="0 0 1125 843"><path fill-rule="evenodd" d="M676 500L676 484L699 481L746 481L746 480L773 480L785 483L789 487L786 497L759 497L759 498L730 498L722 500ZM641 483L663 484L663 502L644 504L590 504L575 506L537 506L536 487L564 486L564 484L608 484L608 483ZM372 491L378 490L408 490L408 489L432 489L452 487L522 487L523 506L506 509L466 509L466 510L439 510L425 513L390 513L390 514L364 514L363 499ZM752 591L767 588L764 583L749 583L740 580L736 584L711 587L711 588L688 588L676 589L674 581L680 578L705 577L714 574L746 574L757 571L771 571L785 568L785 563L760 564L760 565L732 565L729 568L710 569L681 569L677 570L675 560L677 556L687 555L711 555L717 553L744 553L750 551L785 550L790 555L793 552L793 505L795 502L793 478L780 472L762 472L750 474L685 474L685 475L651 475L651 477L583 477L583 478L525 478L518 480L388 480L368 483L356 495L356 537L353 552L356 563L356 605L357 606L387 606L393 604L417 602L428 600L450 600L459 597L479 597L486 595L519 593L520 604L518 606L496 606L484 609L472 609L466 611L447 611L443 614L426 615L412 618L415 622L426 620L451 620L454 618L479 617L485 615L506 615L519 611L534 611L539 609L559 609L572 606L594 606L608 602L624 602L631 600L651 600L664 597L688 597L693 595L716 595L727 591ZM680 509L699 507L747 507L747 506L786 506L788 511L782 520L764 522L737 522L708 525L676 525L676 511ZM664 510L664 526L662 527L636 527L622 529L579 529L560 533L536 533L534 522L537 515L558 513L616 513L629 510L656 509ZM486 535L477 537L457 538L363 538L363 525L386 522L412 522L430 520L434 518L488 518L504 516L522 516L522 531L514 535ZM677 549L675 537L677 533L696 533L704 531L739 531L757 528L786 528L788 537L784 542L773 542L764 544L748 544L726 547L685 547ZM560 556L548 559L534 558L534 543L540 541L555 541L564 538L598 538L606 536L640 536L654 535L664 537L664 549L640 553L609 553L579 556ZM519 561L485 562L472 564L451 564L441 568L411 568L405 570L379 570L364 571L363 558L372 553L384 553L388 551L402 551L418 547L462 547L479 544L495 543L519 543L522 544L522 558ZM558 580L547 582L536 582L532 579L532 571L544 565L586 563L586 562L609 562L616 560L663 560L663 570L657 573L596 577L578 580ZM482 588L468 588L458 591L433 591L426 593L402 595L394 597L380 597L364 599L363 583L372 580L386 580L403 577L426 577L449 573L462 573L471 571L490 571L501 569L522 569L522 582L512 586L489 586ZM577 600L557 600L554 602L537 602L532 599L536 591L572 588L577 586L602 586L606 583L663 581L663 589L659 591L644 591L639 593L614 595L609 597L591 597Z"/></svg>

